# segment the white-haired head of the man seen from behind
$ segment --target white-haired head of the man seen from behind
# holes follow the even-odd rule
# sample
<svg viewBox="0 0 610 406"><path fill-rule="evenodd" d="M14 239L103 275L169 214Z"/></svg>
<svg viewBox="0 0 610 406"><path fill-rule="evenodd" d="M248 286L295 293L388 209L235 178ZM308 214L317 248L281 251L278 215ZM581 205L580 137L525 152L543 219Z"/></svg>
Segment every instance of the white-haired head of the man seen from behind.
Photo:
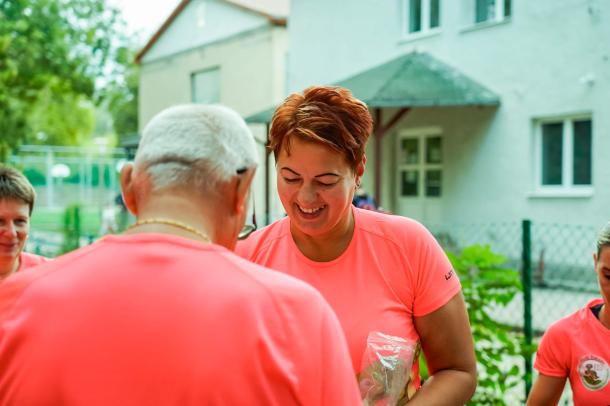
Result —
<svg viewBox="0 0 610 406"><path fill-rule="evenodd" d="M233 245L257 164L254 138L237 113L222 106L181 105L148 123L134 164L121 173L121 186L136 216L153 210L179 217L176 211L184 207L176 199L181 199L180 204L207 210L208 223L222 220L224 230L207 231L222 234L215 242Z"/></svg>

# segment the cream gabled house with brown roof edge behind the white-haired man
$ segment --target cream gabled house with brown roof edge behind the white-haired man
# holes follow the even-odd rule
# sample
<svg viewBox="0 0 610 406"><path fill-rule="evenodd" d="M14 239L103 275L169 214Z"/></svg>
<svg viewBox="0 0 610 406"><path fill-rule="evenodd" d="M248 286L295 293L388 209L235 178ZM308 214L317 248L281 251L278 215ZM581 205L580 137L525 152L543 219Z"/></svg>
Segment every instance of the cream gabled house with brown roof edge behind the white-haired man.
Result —
<svg viewBox="0 0 610 406"><path fill-rule="evenodd" d="M288 0L182 0L137 56L141 129L175 104L220 103L247 116L282 100L287 14ZM266 129L252 129L261 157L253 189L266 222L280 203Z"/></svg>

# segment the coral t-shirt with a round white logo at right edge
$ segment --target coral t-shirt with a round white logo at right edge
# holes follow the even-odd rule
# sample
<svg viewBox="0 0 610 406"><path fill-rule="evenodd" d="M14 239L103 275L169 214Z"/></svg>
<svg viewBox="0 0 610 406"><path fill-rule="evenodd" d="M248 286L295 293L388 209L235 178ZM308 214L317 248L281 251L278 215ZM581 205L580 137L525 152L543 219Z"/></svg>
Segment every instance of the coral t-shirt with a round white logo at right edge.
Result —
<svg viewBox="0 0 610 406"><path fill-rule="evenodd" d="M610 404L610 329L585 307L552 324L544 333L534 368L541 374L568 378L575 405Z"/></svg>

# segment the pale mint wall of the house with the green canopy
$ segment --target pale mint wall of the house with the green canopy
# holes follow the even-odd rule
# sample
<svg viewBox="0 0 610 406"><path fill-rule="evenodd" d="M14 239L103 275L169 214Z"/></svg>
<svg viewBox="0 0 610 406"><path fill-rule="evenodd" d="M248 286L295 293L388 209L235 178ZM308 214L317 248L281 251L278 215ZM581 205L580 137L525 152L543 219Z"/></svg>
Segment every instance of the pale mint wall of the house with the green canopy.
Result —
<svg viewBox="0 0 610 406"><path fill-rule="evenodd" d="M401 34L399 0L385 7L370 0L353 0L349 7L339 1L294 2L289 88L333 83L406 52L429 52L496 92L501 106L495 113L488 108L414 109L402 120L404 127L440 125L445 135L442 216L422 220L530 217L599 225L610 217L610 166L604 154L610 151L610 2L512 3L510 20L475 27L464 17L471 0L442 1L440 31L413 39ZM594 194L540 197L534 193L533 120L579 112L593 118ZM386 207L397 204L395 159L390 159L395 137L384 141ZM372 191L371 148L368 159L365 185Z"/></svg>

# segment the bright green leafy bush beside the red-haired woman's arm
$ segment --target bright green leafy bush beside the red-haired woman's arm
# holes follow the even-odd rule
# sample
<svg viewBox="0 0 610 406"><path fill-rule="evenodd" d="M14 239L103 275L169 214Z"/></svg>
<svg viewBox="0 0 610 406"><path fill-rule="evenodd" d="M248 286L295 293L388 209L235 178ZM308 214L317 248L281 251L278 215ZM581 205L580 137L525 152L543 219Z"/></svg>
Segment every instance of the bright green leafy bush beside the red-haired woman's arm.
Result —
<svg viewBox="0 0 610 406"><path fill-rule="evenodd" d="M488 246L447 255L462 282L477 356L478 385L469 404L504 405L504 394L523 379L511 362L522 355L523 334L494 320L490 310L505 307L522 290L519 273Z"/></svg>

